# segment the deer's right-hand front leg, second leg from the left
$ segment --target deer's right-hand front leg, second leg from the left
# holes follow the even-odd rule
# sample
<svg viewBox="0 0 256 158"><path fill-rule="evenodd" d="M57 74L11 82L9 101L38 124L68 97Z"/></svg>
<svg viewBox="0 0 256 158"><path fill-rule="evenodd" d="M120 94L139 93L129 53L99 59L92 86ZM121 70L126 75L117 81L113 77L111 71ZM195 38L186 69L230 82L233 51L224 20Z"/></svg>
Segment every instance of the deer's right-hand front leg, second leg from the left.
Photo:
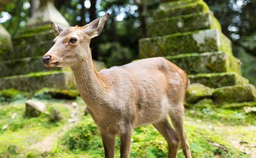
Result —
<svg viewBox="0 0 256 158"><path fill-rule="evenodd" d="M131 146L132 129L124 129L119 134L120 137L120 158L128 158Z"/></svg>

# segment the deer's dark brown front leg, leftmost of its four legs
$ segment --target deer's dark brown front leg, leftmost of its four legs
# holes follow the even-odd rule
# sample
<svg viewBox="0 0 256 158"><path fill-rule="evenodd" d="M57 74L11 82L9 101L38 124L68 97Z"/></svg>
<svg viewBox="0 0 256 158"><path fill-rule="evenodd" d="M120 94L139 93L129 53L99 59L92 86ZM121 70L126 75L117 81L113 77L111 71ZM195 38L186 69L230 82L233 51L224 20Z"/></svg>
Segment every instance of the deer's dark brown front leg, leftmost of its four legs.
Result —
<svg viewBox="0 0 256 158"><path fill-rule="evenodd" d="M101 133L104 146L105 158L114 158L115 155L115 135Z"/></svg>

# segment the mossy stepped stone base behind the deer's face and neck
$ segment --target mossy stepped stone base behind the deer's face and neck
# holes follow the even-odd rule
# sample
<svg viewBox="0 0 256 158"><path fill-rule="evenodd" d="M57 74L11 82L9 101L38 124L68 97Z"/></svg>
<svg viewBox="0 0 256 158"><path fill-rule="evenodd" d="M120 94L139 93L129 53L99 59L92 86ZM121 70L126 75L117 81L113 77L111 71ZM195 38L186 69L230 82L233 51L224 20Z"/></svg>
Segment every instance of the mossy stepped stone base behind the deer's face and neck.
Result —
<svg viewBox="0 0 256 158"><path fill-rule="evenodd" d="M70 69L49 69L41 63L41 57L53 46L54 37L55 33L50 25L26 29L14 37L13 50L0 54L0 90L76 88ZM105 67L103 62L94 61L94 64L98 71Z"/></svg>

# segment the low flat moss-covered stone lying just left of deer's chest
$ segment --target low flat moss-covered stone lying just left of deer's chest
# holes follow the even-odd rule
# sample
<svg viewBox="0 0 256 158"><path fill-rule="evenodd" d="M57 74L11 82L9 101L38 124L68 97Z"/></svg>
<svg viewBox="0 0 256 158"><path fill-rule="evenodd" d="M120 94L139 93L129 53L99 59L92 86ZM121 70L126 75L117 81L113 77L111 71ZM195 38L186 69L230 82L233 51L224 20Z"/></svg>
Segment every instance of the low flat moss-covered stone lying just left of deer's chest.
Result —
<svg viewBox="0 0 256 158"><path fill-rule="evenodd" d="M77 89L43 88L34 94L36 98L44 98L44 96L55 99L76 99L79 92Z"/></svg>

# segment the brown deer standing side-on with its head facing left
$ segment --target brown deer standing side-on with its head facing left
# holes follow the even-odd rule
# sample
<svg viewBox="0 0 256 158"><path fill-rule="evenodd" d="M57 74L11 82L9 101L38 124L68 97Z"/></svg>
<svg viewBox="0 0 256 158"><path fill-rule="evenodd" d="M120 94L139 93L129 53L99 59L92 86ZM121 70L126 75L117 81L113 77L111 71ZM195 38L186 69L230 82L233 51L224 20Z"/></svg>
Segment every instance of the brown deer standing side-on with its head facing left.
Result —
<svg viewBox="0 0 256 158"><path fill-rule="evenodd" d="M176 157L179 142L185 157L191 158L183 129L186 73L162 57L97 72L89 44L102 32L108 17L105 14L84 27L65 28L51 22L57 37L43 63L47 67L71 67L80 95L101 132L105 158L114 158L116 134L121 158L128 158L132 129L150 123L165 137L168 158Z"/></svg>

